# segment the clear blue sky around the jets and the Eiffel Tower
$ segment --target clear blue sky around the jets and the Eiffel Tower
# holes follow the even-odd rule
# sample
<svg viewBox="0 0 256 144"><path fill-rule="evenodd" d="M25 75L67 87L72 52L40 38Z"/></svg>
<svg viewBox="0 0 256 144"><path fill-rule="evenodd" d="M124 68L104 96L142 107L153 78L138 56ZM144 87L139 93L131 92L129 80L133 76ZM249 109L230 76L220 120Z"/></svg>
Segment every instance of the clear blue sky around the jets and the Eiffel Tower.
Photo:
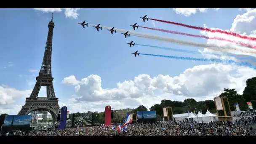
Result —
<svg viewBox="0 0 256 144"><path fill-rule="evenodd" d="M83 27L77 23L86 20L89 24L101 24L106 27L132 30L132 25L138 23L144 27L154 27L152 21L145 23L139 17L147 14L149 18L175 21L179 23L203 27L230 29L235 17L245 13L237 9L210 9L207 12L197 12L190 16L177 14L169 8L86 8L80 9L77 19L66 17L62 12L53 12L55 28L53 30L52 75L54 89L59 101L67 101L74 94L74 87L61 84L64 77L75 75L77 80L91 74L101 77L103 88L115 88L117 82L133 80L140 74L150 76L179 76L184 70L201 64L198 61L183 61L165 59L153 56L137 56L140 53L164 54L173 56L202 57L195 54L165 51L135 45L130 48L126 43L132 40L138 44L157 45L187 50L203 50L173 43L165 43L142 37L125 39L120 32L111 35L106 29L96 31L92 26ZM41 67L45 43L48 33L48 23L51 12L44 13L32 8L0 9L0 84L8 85L21 91L32 89L35 77ZM220 22L221 21L221 22ZM200 35L199 30L165 24L155 21L155 28ZM200 38L174 35L139 28L137 32L172 37L175 39L206 43ZM43 96L44 94L40 95ZM29 97L29 95L27 96ZM23 105L25 99L16 104Z"/></svg>

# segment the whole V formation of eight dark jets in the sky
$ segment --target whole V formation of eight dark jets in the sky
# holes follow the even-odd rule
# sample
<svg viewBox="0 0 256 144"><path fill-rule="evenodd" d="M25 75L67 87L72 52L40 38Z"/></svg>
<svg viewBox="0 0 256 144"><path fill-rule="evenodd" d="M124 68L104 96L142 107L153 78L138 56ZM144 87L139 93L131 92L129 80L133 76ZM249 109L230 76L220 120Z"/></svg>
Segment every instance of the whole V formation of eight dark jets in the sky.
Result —
<svg viewBox="0 0 256 144"><path fill-rule="evenodd" d="M148 21L148 19L149 19L149 18L146 18L146 17L147 17L147 15L145 15L144 17L140 17L140 18L143 19L143 22L145 22L145 19L147 19L147 21ZM85 26L88 27L88 23L85 24L85 21L83 21L83 23L78 23L78 24L82 25L83 28L85 28ZM139 29L139 25L136 26L136 24L137 24L137 23L135 23L135 24L133 24L133 25L130 25L131 27L133 27L133 30L135 30L136 27L137 27L137 29ZM93 26L93 27L94 27L94 26ZM98 24L95 28L97 29L98 32L99 32L99 29L102 30L102 26L100 27L100 24ZM111 34L113 35L113 32L115 32L115 33L117 32L117 29L114 30L114 28L115 28L115 27L112 27L112 29L107 29L107 30L110 31ZM127 38L127 35L128 35L128 37L130 37L131 34L128 34L128 32L129 32L129 31L127 31L127 32L125 32L125 33L122 33L123 35L125 35L125 38ZM130 47L131 47L132 45L135 46L135 43L133 43L133 41L131 41L131 43L127 43L127 44L130 45ZM138 51L136 51L136 52L134 52L134 53L132 53L132 54L134 54L134 56L137 57L137 55L139 56L140 53L138 53Z"/></svg>

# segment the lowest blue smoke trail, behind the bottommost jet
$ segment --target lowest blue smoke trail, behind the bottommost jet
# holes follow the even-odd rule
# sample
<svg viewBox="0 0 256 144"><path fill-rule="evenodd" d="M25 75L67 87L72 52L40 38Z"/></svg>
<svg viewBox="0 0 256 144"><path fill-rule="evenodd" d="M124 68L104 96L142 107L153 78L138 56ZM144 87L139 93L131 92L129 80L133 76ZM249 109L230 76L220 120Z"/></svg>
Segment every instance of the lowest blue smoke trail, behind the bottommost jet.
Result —
<svg viewBox="0 0 256 144"><path fill-rule="evenodd" d="M222 59L200 59L200 58L192 58L192 57L183 57L183 56L165 56L165 55L158 55L158 54L147 54L147 53L140 53L140 55L145 56L157 56L157 57L164 57L169 59L181 59L181 60L189 60L189 61L206 61L206 62L218 62L218 63L227 63L227 64L236 64L238 66L247 66L253 69L256 69L248 62L235 62L233 60L222 60Z"/></svg>

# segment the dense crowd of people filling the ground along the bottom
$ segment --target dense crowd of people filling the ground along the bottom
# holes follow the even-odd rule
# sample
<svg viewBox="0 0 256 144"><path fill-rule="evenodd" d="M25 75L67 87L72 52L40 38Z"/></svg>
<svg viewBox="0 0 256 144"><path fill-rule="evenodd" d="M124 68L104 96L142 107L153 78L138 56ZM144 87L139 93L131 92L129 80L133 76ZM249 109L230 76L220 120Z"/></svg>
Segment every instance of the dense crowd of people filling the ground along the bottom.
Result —
<svg viewBox="0 0 256 144"><path fill-rule="evenodd" d="M256 136L248 126L249 123L255 123L253 118L243 117L239 120L203 123L196 123L195 120L138 123L128 124L123 131L118 131L117 125L101 125L55 131L31 131L28 134L23 131L12 133L29 136Z"/></svg>

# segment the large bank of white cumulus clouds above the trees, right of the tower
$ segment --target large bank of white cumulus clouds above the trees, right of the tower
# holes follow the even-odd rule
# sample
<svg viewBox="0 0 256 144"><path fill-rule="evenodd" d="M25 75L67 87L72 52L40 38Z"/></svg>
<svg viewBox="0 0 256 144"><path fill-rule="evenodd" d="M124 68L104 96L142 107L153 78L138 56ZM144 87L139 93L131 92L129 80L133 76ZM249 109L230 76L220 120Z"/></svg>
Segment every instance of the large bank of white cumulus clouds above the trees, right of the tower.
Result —
<svg viewBox="0 0 256 144"><path fill-rule="evenodd" d="M235 72L236 75L232 75ZM247 72L248 75L244 75ZM148 108L163 99L184 101L213 99L223 88L236 88L239 93L245 88L245 81L256 75L256 70L223 64L209 64L186 69L175 77L143 74L134 80L118 82L116 88L102 88L99 75L89 75L81 80L65 77L63 83L75 85L75 97L67 105L72 110L98 109L106 105L113 108L135 108L146 105ZM155 93L157 91L157 93ZM85 110L86 109L86 110Z"/></svg>

